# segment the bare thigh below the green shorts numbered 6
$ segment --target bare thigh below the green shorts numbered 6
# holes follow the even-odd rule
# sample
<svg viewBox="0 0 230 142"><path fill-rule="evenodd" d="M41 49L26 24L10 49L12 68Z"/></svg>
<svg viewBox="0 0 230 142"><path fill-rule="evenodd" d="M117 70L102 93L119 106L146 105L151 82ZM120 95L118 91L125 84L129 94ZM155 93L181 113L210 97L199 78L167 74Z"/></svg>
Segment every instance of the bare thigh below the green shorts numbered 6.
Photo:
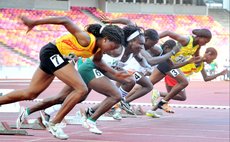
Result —
<svg viewBox="0 0 230 142"><path fill-rule="evenodd" d="M120 95L117 86L106 76L94 78L88 84L89 88L106 96Z"/></svg>

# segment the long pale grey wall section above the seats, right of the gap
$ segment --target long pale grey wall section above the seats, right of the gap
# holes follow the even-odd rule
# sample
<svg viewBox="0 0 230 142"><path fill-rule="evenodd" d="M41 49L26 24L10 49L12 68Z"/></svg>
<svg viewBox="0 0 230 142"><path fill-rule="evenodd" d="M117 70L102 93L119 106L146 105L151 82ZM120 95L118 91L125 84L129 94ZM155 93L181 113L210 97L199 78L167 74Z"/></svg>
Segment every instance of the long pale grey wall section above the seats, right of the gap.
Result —
<svg viewBox="0 0 230 142"><path fill-rule="evenodd" d="M124 4L124 3L106 2L105 12L140 13L140 14L154 13L154 14L208 15L208 8L206 6L196 6L196 5L146 4L146 3Z"/></svg>

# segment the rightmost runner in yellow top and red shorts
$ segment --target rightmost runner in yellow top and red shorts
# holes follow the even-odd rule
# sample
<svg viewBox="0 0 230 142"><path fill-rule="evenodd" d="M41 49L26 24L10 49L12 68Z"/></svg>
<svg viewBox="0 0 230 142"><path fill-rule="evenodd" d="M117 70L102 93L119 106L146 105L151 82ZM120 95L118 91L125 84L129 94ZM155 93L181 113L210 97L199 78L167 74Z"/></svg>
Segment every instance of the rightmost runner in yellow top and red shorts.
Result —
<svg viewBox="0 0 230 142"><path fill-rule="evenodd" d="M207 64L210 64L213 60L216 59L216 57L217 57L216 49L213 47L209 47L206 49L205 54L201 58L201 62L187 64L185 66L182 66L180 70L184 73L186 77L192 75L193 73L201 72L204 81L211 81L215 79L216 77L220 75L225 75L227 73L227 70L223 70L220 73L217 73L215 75L210 75L210 76L207 75L204 69L204 62ZM176 79L174 79L173 77L169 75L165 76L165 85L166 85L167 92L170 92L172 88L176 86L177 84L178 82ZM157 105L157 99L159 97L165 97L166 95L167 93L165 92L159 92L157 90L154 90L152 94L152 100L151 100L152 105L153 106ZM178 100L178 101L185 101L186 100L185 88L180 90L179 93L175 95L172 99ZM155 111L152 111L152 110L148 110L146 112L146 115L151 116L151 117L160 117Z"/></svg>

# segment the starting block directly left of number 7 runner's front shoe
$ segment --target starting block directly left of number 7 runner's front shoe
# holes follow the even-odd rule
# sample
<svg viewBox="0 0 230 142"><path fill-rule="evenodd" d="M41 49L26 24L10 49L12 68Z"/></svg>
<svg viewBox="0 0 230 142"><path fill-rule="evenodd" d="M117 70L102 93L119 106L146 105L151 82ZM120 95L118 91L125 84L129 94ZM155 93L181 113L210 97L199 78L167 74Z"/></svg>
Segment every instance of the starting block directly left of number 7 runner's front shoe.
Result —
<svg viewBox="0 0 230 142"><path fill-rule="evenodd" d="M16 125L10 125L10 128L16 129ZM39 117L38 119L29 119L25 120L20 129L33 129L33 130L45 130L46 127L42 124L42 120Z"/></svg>

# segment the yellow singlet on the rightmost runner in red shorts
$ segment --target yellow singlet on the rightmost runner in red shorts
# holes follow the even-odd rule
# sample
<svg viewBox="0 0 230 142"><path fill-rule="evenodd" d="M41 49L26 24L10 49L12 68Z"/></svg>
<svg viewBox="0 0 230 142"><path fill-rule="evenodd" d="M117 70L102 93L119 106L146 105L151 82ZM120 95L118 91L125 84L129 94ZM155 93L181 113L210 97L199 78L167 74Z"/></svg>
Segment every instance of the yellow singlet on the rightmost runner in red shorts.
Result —
<svg viewBox="0 0 230 142"><path fill-rule="evenodd" d="M181 71L185 74L185 76L190 76L193 73L200 72L204 68L204 63L202 62L199 66L196 64L187 64L183 67L181 67Z"/></svg>

